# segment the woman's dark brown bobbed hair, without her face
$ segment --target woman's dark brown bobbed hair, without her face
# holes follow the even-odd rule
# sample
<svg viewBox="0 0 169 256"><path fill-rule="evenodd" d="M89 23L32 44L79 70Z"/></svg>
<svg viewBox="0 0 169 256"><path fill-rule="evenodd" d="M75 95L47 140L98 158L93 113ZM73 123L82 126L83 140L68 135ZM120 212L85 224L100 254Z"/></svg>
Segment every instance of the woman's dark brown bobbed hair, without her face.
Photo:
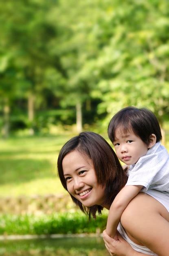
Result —
<svg viewBox="0 0 169 256"><path fill-rule="evenodd" d="M61 148L57 160L59 178L66 190L66 180L63 173L62 161L64 157L73 150L89 157L92 160L98 184L105 187L104 204L111 205L116 195L125 186L127 176L123 170L114 150L103 137L94 132L81 132L78 136L70 139ZM70 195L72 200L80 209L96 218L96 212L101 213L103 207L94 205L85 207L79 200Z"/></svg>

